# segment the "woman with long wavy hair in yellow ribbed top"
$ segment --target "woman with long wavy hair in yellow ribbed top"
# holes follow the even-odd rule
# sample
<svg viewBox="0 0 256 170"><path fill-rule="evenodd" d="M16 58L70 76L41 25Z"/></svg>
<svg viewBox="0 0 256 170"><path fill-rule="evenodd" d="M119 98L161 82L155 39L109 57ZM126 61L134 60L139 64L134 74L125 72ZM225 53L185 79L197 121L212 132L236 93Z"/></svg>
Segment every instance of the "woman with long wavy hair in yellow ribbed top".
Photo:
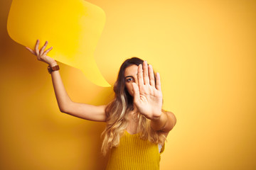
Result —
<svg viewBox="0 0 256 170"><path fill-rule="evenodd" d="M114 84L115 97L107 106L73 102L65 91L55 60L45 45L26 47L38 60L49 64L60 111L92 121L106 122L102 153L110 151L107 169L159 169L160 154L169 131L176 124L174 113L162 110L159 73L137 57L125 60Z"/></svg>

